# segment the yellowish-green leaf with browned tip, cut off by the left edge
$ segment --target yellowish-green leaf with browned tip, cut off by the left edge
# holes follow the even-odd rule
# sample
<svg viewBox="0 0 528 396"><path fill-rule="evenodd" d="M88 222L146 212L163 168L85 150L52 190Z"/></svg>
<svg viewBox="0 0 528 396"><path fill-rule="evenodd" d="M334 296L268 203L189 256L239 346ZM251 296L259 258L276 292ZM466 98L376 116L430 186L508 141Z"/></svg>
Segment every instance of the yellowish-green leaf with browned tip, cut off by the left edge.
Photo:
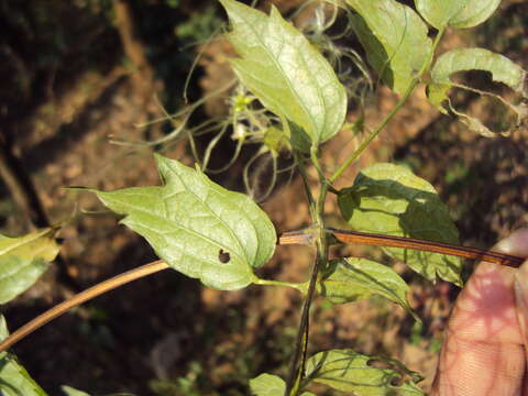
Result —
<svg viewBox="0 0 528 396"><path fill-rule="evenodd" d="M57 228L19 238L0 235L0 304L29 289L58 254Z"/></svg>

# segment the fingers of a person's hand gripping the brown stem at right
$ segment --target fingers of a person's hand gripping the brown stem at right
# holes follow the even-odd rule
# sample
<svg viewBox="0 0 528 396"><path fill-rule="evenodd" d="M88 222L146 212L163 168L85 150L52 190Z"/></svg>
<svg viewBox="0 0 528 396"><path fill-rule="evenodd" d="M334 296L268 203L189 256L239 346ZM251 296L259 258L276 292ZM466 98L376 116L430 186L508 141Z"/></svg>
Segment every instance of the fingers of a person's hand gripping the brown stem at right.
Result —
<svg viewBox="0 0 528 396"><path fill-rule="evenodd" d="M528 257L528 229L494 250ZM435 396L528 396L528 261L482 262L460 293L446 331Z"/></svg>

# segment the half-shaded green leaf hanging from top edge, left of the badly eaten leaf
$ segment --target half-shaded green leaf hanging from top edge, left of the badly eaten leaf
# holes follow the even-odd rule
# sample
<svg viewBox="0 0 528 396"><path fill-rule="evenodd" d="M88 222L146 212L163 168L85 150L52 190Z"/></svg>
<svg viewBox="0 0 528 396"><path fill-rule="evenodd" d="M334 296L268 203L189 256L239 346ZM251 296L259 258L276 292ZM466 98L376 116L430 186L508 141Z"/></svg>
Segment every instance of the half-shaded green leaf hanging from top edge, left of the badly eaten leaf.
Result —
<svg viewBox="0 0 528 396"><path fill-rule="evenodd" d="M428 62L432 42L428 29L409 7L395 0L346 0L360 15L352 28L371 66L394 91L404 94Z"/></svg>

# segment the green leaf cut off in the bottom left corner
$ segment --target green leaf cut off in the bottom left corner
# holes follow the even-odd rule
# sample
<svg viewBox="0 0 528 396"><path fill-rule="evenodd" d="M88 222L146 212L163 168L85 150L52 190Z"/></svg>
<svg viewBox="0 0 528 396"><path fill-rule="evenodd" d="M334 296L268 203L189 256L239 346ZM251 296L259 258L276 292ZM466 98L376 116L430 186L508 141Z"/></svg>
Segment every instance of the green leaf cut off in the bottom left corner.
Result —
<svg viewBox="0 0 528 396"><path fill-rule="evenodd" d="M8 352L0 353L0 395L1 396L46 396L16 358Z"/></svg>

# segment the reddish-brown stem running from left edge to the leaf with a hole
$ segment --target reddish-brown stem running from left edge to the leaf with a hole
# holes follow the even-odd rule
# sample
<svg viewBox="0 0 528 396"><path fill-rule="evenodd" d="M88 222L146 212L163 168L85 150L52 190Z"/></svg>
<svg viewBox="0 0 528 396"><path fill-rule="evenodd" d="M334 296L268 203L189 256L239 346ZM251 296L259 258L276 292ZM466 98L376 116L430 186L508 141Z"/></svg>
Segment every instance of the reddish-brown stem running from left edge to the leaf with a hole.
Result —
<svg viewBox="0 0 528 396"><path fill-rule="evenodd" d="M81 305L82 302L86 302L101 294L105 294L107 292L110 292L111 289L114 289L117 287L120 287L124 284L128 284L132 280L142 278L147 275L155 274L160 271L169 268L168 264L165 263L162 260L142 265L138 268L130 270L125 273L119 274L114 277L111 277L110 279L107 279L105 282L101 282L77 295L74 297L56 305L55 307L48 309L44 314L41 314L26 324L22 326L20 329L18 329L15 332L11 333L6 340L0 342L0 352L6 351L8 348L12 346L14 343L19 342L21 339L23 339L25 336L30 334L31 332L40 329L44 324L46 324L48 321L55 319L56 317L63 315L66 312L68 309L72 309L74 307L77 307Z"/></svg>

